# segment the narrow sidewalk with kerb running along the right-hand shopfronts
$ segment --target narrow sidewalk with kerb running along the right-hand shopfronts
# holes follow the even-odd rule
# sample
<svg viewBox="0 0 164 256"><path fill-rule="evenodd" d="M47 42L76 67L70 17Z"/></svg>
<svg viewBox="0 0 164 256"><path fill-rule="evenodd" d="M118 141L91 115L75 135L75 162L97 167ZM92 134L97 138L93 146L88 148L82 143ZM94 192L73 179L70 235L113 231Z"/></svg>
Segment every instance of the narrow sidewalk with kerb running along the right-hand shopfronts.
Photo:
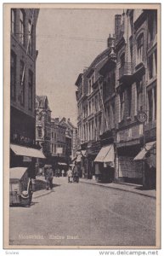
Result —
<svg viewBox="0 0 164 256"><path fill-rule="evenodd" d="M147 197L155 198L156 199L156 189L149 189L144 190L142 185L133 184L133 183L98 183L96 180L93 179L80 179L81 183L88 183L95 186L105 187L107 189L119 189L122 191L127 191L134 194L144 195Z"/></svg>

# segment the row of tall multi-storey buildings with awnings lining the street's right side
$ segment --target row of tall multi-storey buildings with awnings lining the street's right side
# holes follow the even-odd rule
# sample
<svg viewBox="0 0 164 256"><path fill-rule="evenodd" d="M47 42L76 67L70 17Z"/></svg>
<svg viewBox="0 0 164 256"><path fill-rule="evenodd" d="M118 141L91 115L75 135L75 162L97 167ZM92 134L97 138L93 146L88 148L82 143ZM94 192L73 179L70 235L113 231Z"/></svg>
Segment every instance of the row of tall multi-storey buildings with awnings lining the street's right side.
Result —
<svg viewBox="0 0 164 256"><path fill-rule="evenodd" d="M155 9L127 9L116 15L107 49L78 76L78 148L86 150L84 176L150 183L149 167L146 171L140 154L156 144L156 33ZM156 170L152 176L156 180Z"/></svg>

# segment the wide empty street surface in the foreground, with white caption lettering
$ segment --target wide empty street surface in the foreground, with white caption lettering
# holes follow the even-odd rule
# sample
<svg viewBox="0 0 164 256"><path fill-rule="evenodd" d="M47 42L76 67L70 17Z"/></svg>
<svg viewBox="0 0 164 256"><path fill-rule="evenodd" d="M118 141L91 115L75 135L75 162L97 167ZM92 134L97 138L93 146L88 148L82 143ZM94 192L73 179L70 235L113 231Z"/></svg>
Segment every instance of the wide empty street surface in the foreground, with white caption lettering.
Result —
<svg viewBox="0 0 164 256"><path fill-rule="evenodd" d="M31 207L10 207L10 244L155 246L156 200L54 177Z"/></svg>

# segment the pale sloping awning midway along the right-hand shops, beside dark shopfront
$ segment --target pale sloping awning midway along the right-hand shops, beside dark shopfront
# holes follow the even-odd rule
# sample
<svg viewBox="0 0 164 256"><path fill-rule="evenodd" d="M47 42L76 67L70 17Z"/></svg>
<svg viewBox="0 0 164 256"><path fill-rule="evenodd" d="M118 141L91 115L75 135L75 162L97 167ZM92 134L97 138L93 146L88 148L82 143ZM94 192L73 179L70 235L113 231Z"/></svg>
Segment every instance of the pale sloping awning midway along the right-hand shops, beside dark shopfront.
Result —
<svg viewBox="0 0 164 256"><path fill-rule="evenodd" d="M94 162L114 162L115 154L113 144L105 146L100 149L99 154L96 156Z"/></svg>

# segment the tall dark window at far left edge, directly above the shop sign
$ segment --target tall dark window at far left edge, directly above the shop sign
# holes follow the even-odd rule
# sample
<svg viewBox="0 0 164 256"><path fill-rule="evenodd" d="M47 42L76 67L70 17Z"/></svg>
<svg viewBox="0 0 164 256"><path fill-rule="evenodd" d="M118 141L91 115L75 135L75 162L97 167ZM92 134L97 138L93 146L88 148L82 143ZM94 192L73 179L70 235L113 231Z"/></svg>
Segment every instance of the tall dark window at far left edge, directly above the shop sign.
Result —
<svg viewBox="0 0 164 256"><path fill-rule="evenodd" d="M16 100L16 55L14 52L11 52L11 60L10 60L10 94L11 99Z"/></svg>

